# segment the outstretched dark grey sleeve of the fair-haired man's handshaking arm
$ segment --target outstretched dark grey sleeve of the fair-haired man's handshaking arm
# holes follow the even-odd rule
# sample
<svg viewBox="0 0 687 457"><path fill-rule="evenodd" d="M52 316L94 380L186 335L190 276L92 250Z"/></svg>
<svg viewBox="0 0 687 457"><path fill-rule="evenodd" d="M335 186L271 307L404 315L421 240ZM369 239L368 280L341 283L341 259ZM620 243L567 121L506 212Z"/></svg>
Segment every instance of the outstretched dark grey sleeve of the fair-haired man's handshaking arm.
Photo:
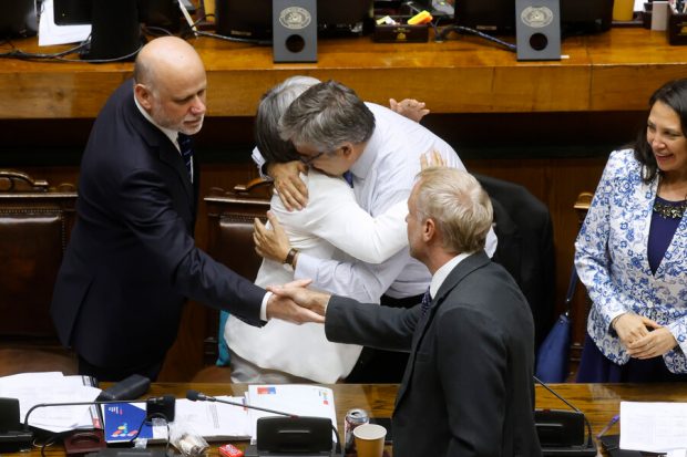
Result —
<svg viewBox="0 0 687 457"><path fill-rule="evenodd" d="M325 334L332 342L408 352L420 313L419 305L410 310L373 307L332 295L327 307Z"/></svg>

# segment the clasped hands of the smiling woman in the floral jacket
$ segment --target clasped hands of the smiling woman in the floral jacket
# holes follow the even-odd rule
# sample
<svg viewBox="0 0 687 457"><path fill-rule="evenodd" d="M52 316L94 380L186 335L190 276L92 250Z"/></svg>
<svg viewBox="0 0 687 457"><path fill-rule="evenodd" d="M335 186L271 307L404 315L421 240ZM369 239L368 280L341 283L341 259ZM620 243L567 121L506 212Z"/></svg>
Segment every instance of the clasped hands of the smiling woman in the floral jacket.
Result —
<svg viewBox="0 0 687 457"><path fill-rule="evenodd" d="M677 345L670 330L638 314L621 314L613 328L629 356L634 359L658 357Z"/></svg>

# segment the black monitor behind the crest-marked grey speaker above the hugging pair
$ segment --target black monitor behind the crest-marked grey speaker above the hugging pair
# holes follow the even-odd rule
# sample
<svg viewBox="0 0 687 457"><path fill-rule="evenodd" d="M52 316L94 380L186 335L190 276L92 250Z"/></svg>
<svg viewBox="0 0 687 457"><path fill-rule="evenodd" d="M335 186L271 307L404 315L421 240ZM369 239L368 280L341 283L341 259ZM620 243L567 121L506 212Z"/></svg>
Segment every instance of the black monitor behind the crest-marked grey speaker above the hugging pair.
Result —
<svg viewBox="0 0 687 457"><path fill-rule="evenodd" d="M372 0L317 0L320 34L362 33ZM236 38L271 38L271 0L216 0L215 29L218 34Z"/></svg>

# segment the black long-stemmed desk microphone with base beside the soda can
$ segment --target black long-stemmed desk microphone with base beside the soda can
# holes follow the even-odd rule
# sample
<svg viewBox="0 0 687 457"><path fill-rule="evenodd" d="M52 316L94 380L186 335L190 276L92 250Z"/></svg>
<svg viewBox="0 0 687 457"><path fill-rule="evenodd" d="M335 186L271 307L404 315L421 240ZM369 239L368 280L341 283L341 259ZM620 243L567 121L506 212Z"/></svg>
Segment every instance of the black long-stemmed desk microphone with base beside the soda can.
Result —
<svg viewBox="0 0 687 457"><path fill-rule="evenodd" d="M186 391L186 398L192 402L216 402L278 414L286 417L260 417L257 419L257 447L248 446L246 457L257 456L260 450L271 453L317 453L331 451L331 432L336 436L336 455L341 454L339 433L331 420L326 417L298 416L283 411L253 406L238 402L213 397L197 391ZM259 439L258 439L259 437Z"/></svg>

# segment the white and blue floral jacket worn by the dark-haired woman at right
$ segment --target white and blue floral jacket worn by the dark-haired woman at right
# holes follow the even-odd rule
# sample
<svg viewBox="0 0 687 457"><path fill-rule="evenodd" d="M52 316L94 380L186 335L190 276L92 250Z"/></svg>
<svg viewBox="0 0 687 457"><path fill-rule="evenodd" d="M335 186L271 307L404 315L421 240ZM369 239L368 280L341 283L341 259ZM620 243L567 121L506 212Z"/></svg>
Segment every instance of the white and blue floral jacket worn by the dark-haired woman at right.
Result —
<svg viewBox="0 0 687 457"><path fill-rule="evenodd" d="M658 179L642 181L642 164L632 149L611 154L575 241L575 267L593 301L587 332L599 351L623 365L629 360L611 322L634 312L667 326L678 346L664 362L687 372L687 218L652 273L647 242Z"/></svg>

